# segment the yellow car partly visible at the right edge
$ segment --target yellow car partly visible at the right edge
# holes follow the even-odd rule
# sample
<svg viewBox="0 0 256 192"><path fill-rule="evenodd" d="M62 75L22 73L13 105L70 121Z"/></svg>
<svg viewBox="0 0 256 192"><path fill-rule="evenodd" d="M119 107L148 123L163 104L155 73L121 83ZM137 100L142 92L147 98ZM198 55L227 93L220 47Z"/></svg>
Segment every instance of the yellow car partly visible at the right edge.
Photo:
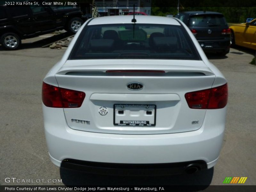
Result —
<svg viewBox="0 0 256 192"><path fill-rule="evenodd" d="M256 19L241 24L230 25L231 45L240 45L256 50Z"/></svg>

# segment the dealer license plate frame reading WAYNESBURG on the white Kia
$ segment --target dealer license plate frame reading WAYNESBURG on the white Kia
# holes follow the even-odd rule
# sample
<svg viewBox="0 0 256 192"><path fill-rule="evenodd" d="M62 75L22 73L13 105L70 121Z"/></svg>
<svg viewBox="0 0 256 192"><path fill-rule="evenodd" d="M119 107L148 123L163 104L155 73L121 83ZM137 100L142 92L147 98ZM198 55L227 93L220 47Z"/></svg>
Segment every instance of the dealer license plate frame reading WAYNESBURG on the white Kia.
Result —
<svg viewBox="0 0 256 192"><path fill-rule="evenodd" d="M120 120L120 122L116 122L116 109L121 108L124 110L128 110L128 109L136 109L136 108L144 108L144 110L140 110L140 113L146 113L147 111L151 111L151 117L150 121L152 121L152 119L154 119L153 123L149 123L150 121L148 121L147 119L135 119L131 120L131 119L123 119ZM156 126L156 105L154 104L114 104L113 106L113 123L115 126L130 126L130 127L134 127L134 126L139 126L139 127L152 127L152 126ZM131 110L129 110L131 112ZM139 113L139 112L138 112ZM149 116L150 116L149 115ZM148 116L147 116L148 117ZM120 117L119 117L120 118ZM124 117L125 118L125 117ZM131 117L129 117L131 118Z"/></svg>

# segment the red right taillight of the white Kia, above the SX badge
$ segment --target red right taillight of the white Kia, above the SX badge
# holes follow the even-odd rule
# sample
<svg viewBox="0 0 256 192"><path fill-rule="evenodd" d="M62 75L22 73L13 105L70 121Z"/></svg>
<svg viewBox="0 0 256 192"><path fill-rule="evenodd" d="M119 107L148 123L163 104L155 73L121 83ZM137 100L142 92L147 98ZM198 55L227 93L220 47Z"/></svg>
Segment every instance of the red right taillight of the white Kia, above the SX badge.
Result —
<svg viewBox="0 0 256 192"><path fill-rule="evenodd" d="M189 108L220 109L228 103L228 84L185 94Z"/></svg>

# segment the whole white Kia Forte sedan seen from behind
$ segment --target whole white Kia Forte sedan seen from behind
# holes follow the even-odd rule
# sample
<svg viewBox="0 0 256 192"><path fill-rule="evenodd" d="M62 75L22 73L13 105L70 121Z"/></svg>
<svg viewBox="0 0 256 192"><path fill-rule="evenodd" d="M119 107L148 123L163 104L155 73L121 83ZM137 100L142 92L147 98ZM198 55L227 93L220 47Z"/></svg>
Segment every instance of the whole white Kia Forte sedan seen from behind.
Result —
<svg viewBox="0 0 256 192"><path fill-rule="evenodd" d="M180 20L110 16L84 23L45 76L42 100L57 166L193 173L219 158L228 86Z"/></svg>

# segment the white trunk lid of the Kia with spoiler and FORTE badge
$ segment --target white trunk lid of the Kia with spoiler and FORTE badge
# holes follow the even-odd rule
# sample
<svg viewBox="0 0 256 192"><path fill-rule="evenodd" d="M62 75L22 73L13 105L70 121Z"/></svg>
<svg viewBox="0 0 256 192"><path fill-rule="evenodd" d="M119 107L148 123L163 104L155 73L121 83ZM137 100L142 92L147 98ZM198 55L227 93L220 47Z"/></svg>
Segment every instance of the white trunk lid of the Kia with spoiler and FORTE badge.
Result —
<svg viewBox="0 0 256 192"><path fill-rule="evenodd" d="M165 73L138 72L145 68ZM137 72L106 73L107 70ZM56 79L62 88L86 94L80 108L64 108L70 128L161 134L201 127L206 110L189 108L184 95L211 88L215 75L200 60L68 60ZM128 89L127 85L134 82L143 88Z"/></svg>

